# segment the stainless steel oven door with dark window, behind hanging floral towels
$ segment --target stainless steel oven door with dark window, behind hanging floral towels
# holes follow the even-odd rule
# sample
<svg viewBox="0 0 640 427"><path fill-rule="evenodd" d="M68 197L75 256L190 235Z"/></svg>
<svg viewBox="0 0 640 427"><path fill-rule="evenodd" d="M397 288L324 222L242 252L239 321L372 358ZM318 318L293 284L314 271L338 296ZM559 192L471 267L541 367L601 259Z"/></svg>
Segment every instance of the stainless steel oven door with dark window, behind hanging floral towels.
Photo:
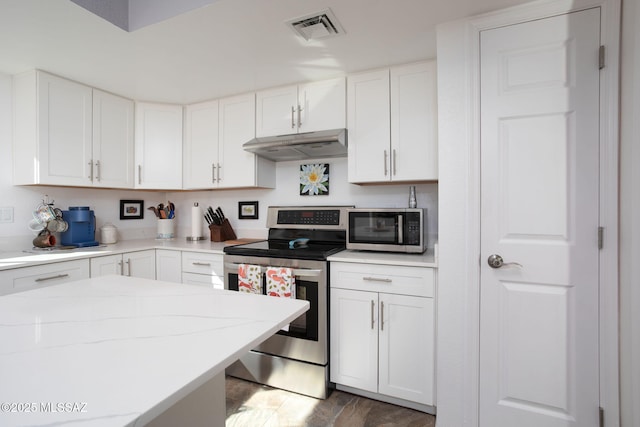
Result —
<svg viewBox="0 0 640 427"><path fill-rule="evenodd" d="M293 270L296 298L309 301L309 310L293 320L253 351L324 365L327 363L327 269L324 261L308 261L268 257L224 256L225 288L238 290L238 268L241 264L262 269L263 292L265 272L269 267ZM265 295L265 298L273 298Z"/></svg>

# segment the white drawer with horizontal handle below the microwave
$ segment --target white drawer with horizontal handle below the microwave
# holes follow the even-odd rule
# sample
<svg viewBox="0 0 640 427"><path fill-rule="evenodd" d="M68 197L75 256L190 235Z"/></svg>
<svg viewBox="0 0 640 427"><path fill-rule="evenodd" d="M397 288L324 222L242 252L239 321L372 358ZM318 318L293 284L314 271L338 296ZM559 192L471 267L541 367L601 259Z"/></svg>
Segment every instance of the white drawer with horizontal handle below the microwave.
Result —
<svg viewBox="0 0 640 427"><path fill-rule="evenodd" d="M422 267L332 262L330 283L332 288L433 297L435 271Z"/></svg>

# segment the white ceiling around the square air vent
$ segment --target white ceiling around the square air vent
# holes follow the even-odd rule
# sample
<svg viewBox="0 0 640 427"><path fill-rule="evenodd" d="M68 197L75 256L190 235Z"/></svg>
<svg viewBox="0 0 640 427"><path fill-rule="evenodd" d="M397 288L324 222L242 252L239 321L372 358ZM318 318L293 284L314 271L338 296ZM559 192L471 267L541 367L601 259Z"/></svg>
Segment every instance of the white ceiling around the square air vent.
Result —
<svg viewBox="0 0 640 427"><path fill-rule="evenodd" d="M70 0L0 0L0 72L186 104L435 58L438 23L526 1L218 0L127 32ZM327 7L344 36L307 42L285 25Z"/></svg>

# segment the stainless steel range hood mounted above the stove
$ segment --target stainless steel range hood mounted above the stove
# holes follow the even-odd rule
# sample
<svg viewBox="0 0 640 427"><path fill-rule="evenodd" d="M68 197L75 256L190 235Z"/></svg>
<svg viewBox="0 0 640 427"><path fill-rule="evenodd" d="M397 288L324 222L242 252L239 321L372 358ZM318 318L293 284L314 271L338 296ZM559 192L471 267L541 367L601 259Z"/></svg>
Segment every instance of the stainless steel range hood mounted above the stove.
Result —
<svg viewBox="0 0 640 427"><path fill-rule="evenodd" d="M347 130L332 129L255 138L242 148L270 160L305 160L347 155Z"/></svg>

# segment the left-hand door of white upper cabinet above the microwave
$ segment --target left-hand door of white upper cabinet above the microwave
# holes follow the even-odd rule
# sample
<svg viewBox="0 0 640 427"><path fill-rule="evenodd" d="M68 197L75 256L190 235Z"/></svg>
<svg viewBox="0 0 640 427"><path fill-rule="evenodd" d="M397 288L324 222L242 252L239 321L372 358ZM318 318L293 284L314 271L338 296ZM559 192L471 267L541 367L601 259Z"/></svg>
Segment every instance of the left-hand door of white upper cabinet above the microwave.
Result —
<svg viewBox="0 0 640 427"><path fill-rule="evenodd" d="M347 78L349 182L390 178L389 70Z"/></svg>

